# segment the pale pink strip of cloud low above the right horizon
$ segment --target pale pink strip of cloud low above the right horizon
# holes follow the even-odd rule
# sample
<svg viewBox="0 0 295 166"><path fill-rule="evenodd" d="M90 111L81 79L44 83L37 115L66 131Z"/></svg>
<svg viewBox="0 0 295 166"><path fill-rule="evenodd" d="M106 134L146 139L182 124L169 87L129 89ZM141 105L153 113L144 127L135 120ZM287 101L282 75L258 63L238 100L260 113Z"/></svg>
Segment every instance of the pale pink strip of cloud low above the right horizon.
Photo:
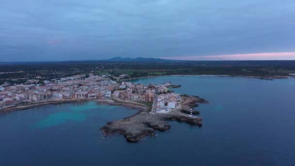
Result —
<svg viewBox="0 0 295 166"><path fill-rule="evenodd" d="M269 52L231 55L164 57L174 60L295 60L295 52Z"/></svg>

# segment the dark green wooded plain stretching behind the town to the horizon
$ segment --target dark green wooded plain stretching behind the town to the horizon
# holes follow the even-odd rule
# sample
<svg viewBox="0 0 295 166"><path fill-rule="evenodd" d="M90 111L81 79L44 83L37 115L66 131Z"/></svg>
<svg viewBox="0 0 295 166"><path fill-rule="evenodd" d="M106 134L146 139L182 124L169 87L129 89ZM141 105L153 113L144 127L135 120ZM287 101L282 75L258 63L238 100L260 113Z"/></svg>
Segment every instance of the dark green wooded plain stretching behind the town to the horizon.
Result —
<svg viewBox="0 0 295 166"><path fill-rule="evenodd" d="M1 73L2 72L2 73ZM10 73L5 73L10 72ZM12 72L12 73L11 73ZM40 81L77 74L129 74L131 78L163 75L230 75L273 77L295 73L295 61L168 61L107 62L71 61L11 63L0 65L0 84L24 83L41 76Z"/></svg>

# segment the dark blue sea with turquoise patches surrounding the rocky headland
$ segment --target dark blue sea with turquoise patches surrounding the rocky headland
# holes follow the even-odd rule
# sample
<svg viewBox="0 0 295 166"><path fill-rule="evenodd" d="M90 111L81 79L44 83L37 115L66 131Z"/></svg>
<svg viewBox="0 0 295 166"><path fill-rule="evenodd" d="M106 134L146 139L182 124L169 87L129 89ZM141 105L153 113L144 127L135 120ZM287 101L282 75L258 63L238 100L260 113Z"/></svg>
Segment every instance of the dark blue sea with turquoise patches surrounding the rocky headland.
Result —
<svg viewBox="0 0 295 166"><path fill-rule="evenodd" d="M173 76L137 83L181 84L177 93L210 104L197 110L203 127L171 121L137 144L114 135L106 122L134 109L95 102L47 105L0 115L0 166L295 166L295 79Z"/></svg>

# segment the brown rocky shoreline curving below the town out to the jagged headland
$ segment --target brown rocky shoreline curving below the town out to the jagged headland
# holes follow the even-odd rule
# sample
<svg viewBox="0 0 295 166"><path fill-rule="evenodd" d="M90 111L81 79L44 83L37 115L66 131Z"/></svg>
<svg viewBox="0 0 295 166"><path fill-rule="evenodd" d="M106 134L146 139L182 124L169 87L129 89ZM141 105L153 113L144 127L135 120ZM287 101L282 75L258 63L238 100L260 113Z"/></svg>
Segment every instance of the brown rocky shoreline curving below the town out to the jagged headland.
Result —
<svg viewBox="0 0 295 166"><path fill-rule="evenodd" d="M185 96L187 98L182 106L184 109L191 108L192 106L196 106L196 102L199 103L207 103L206 100L203 100L196 96ZM147 106L131 103L128 101L118 101L112 99L96 99L96 100L58 100L58 101L43 101L37 103L30 103L27 105L19 105L12 106L8 108L4 108L0 110L0 114L9 113L13 111L21 111L30 108L35 108L43 105L49 104L64 104L70 102L80 102L80 101L96 101L101 104L106 105L118 105L129 107L133 109L137 109L138 112L133 116L125 117L121 120L115 120L108 122L104 127L100 130L104 136L114 135L114 134L122 134L126 137L126 140L129 142L138 142L142 138L146 136L155 136L155 130L158 131L167 131L171 128L171 126L166 122L169 120L177 120L183 121L189 124L202 126L202 118L201 117L190 117L183 116L178 114L177 112L172 112L168 114L150 114L149 108ZM186 108L187 107L187 108Z"/></svg>

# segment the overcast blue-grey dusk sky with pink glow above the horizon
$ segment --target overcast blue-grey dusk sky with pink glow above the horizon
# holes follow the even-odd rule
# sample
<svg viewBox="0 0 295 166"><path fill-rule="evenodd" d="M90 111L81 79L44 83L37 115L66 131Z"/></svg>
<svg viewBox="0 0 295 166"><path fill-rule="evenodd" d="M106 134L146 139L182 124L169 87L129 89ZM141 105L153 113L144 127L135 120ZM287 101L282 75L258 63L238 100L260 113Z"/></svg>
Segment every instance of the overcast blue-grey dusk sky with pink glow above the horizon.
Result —
<svg viewBox="0 0 295 166"><path fill-rule="evenodd" d="M0 0L0 62L295 60L295 0Z"/></svg>

